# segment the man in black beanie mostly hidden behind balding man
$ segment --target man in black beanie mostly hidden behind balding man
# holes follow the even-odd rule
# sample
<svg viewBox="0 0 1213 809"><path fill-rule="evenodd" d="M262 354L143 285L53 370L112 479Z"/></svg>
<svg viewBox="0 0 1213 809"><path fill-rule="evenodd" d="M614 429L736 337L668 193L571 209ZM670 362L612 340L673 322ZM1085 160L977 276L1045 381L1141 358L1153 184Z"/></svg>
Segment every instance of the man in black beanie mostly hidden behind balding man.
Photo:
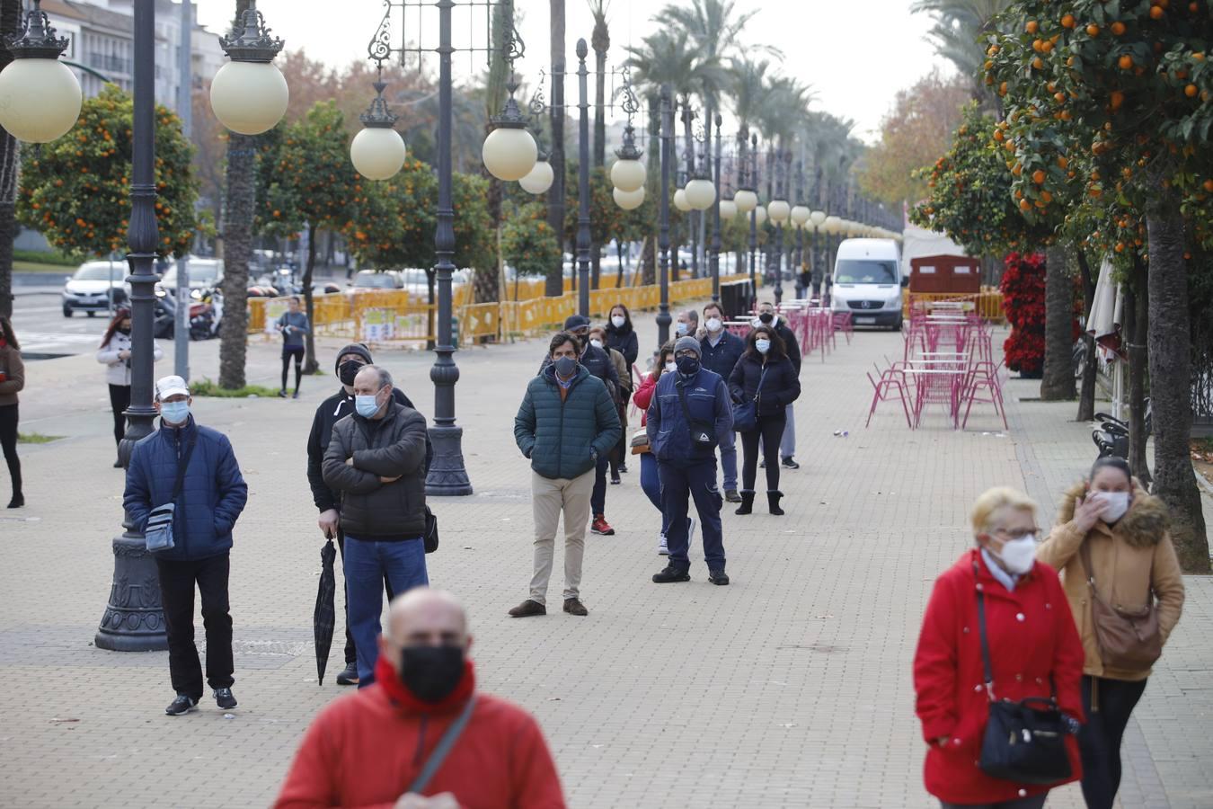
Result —
<svg viewBox="0 0 1213 809"><path fill-rule="evenodd" d="M354 412L354 377L364 365L371 364L371 353L361 343L351 343L337 352L336 374L341 380L341 388L331 397L320 403L312 418L312 432L307 439L307 480L312 488L312 500L320 512L318 524L320 532L329 539L336 537L337 548L341 551L342 563L346 558L346 532L341 525L341 492L334 491L324 482L321 465L324 451L329 449L329 440L332 437L332 426ZM404 392L392 388L392 398L405 408L416 410L412 401ZM426 438L426 468L433 457L433 449L429 438ZM388 600L393 597L392 582L383 577L383 586L387 588ZM346 614L346 668L337 674L340 685L358 684L358 651L354 645L354 636L349 632L349 603L344 606Z"/></svg>

